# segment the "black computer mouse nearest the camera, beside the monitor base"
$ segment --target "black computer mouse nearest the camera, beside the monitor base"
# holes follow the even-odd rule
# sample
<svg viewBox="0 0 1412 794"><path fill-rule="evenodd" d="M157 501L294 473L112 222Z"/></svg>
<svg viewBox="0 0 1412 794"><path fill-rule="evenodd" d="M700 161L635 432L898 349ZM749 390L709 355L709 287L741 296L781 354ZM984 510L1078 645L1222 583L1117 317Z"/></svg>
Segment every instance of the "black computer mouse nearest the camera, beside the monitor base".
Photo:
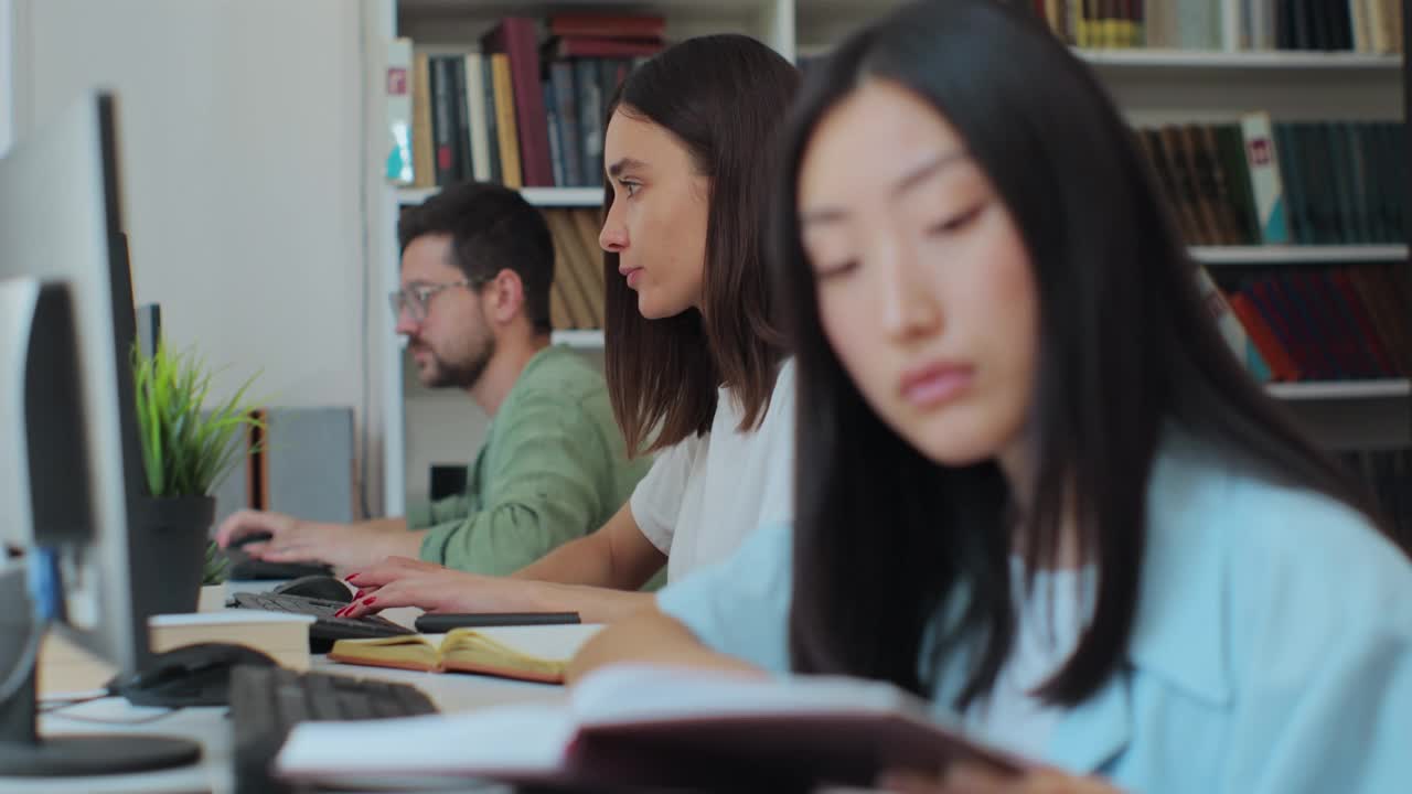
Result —
<svg viewBox="0 0 1412 794"><path fill-rule="evenodd" d="M230 671L240 664L277 663L251 647L198 643L155 654L138 672L109 681L107 689L138 706L225 706L230 705Z"/></svg>

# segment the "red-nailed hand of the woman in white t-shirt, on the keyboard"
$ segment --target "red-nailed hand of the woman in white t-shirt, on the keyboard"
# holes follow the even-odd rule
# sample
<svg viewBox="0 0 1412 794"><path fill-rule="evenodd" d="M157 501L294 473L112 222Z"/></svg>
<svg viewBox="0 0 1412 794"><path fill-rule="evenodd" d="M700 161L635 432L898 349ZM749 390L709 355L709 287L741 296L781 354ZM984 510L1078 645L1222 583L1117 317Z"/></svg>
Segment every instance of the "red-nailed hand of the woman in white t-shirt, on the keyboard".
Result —
<svg viewBox="0 0 1412 794"><path fill-rule="evenodd" d="M361 617L394 606L426 612L545 612L545 596L555 585L453 571L407 557L387 559L353 572L347 582L359 588L340 617Z"/></svg>

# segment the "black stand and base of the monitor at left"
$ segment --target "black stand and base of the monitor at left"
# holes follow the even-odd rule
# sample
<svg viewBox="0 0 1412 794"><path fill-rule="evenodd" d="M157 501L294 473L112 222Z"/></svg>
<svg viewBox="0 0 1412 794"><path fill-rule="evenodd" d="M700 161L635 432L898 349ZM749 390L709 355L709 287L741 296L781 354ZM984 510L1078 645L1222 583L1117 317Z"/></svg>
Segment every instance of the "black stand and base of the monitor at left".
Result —
<svg viewBox="0 0 1412 794"><path fill-rule="evenodd" d="M23 568L21 568L23 569ZM23 575L0 572L0 585L24 581ZM0 589L8 589L0 586ZM21 591L23 593L23 591ZM25 603L24 598L7 603ZM0 651L0 681L10 672L24 684L0 704L0 777L72 777L121 774L186 766L201 760L201 745L186 739L137 733L103 736L40 736L35 668L28 609L10 612L0 622L0 648L13 648L20 658L4 660ZM8 661L8 664L6 664ZM23 672L20 665L28 667Z"/></svg>

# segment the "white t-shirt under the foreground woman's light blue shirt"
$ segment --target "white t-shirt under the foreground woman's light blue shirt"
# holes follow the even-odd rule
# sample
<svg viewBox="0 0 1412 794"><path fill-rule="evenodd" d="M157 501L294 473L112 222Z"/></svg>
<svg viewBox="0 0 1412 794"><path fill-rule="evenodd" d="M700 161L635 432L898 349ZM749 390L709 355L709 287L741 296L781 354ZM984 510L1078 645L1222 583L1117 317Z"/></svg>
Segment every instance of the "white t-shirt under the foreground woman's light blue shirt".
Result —
<svg viewBox="0 0 1412 794"><path fill-rule="evenodd" d="M1043 757L1065 715L1031 692L1048 681L1079 646L1093 605L1094 568L1039 571L1025 593L1024 562L1010 559L1015 640L995 687L966 709L966 723L990 742L1031 759Z"/></svg>

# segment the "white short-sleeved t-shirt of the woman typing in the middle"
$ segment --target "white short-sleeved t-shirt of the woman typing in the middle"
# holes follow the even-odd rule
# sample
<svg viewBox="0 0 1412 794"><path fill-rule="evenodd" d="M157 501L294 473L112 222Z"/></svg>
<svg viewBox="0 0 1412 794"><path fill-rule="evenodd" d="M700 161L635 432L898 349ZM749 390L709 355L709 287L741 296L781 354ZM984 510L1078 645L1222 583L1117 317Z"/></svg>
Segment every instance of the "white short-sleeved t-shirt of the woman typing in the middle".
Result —
<svg viewBox="0 0 1412 794"><path fill-rule="evenodd" d="M740 432L724 389L710 432L662 451L628 504L640 530L668 555L666 581L726 559L764 524L794 517L794 360L779 367L770 410Z"/></svg>

